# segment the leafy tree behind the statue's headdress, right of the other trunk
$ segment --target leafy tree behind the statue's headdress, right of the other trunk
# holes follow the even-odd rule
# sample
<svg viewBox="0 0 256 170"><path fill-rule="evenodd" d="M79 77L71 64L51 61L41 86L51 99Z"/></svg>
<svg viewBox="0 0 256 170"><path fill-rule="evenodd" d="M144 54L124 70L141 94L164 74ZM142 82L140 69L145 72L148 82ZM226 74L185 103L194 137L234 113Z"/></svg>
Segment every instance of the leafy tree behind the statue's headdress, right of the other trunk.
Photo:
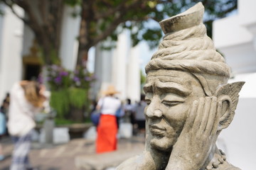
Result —
<svg viewBox="0 0 256 170"><path fill-rule="evenodd" d="M151 20L161 21L167 16L174 16L186 8L199 2L191 0L82 0L82 21L80 25L78 62L87 61L87 52L90 47L105 38L117 40L117 35L122 29L132 31L133 45L141 40L149 42L150 47L156 47L162 36L159 27L145 27ZM206 6L206 26L210 32L215 18L226 16L237 8L237 0L203 0Z"/></svg>

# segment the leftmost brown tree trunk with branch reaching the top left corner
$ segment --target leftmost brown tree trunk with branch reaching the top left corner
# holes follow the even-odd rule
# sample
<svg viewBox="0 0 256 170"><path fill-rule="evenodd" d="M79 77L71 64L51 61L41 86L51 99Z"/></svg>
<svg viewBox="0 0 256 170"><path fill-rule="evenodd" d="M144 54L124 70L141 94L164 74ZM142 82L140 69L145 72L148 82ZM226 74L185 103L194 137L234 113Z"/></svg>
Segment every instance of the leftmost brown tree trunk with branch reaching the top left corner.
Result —
<svg viewBox="0 0 256 170"><path fill-rule="evenodd" d="M1 2L9 6L11 11L31 28L42 52L43 61L46 64L53 64L58 58L60 48L63 1L1 0ZM14 5L23 8L25 15L20 16L16 13Z"/></svg>

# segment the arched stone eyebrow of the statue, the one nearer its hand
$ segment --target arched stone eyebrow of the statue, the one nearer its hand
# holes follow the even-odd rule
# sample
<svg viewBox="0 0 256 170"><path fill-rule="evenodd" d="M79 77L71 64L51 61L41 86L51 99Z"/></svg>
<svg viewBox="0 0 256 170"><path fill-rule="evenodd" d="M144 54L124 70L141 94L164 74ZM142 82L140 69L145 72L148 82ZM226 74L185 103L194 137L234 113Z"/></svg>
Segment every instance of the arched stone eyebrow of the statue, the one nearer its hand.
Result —
<svg viewBox="0 0 256 170"><path fill-rule="evenodd" d="M188 96L192 92L191 89L187 89L185 86L182 86L181 84L177 84L174 82L156 82L156 87L158 89L161 89L161 91L178 94L184 97Z"/></svg>

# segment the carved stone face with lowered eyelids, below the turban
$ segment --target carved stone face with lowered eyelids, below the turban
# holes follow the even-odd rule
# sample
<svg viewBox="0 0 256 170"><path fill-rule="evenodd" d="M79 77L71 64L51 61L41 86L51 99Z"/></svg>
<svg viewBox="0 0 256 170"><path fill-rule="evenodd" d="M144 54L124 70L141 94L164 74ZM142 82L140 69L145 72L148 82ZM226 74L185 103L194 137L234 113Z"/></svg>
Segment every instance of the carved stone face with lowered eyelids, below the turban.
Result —
<svg viewBox="0 0 256 170"><path fill-rule="evenodd" d="M170 151L181 134L193 101L205 96L198 80L188 72L149 72L144 86L148 142L151 147Z"/></svg>

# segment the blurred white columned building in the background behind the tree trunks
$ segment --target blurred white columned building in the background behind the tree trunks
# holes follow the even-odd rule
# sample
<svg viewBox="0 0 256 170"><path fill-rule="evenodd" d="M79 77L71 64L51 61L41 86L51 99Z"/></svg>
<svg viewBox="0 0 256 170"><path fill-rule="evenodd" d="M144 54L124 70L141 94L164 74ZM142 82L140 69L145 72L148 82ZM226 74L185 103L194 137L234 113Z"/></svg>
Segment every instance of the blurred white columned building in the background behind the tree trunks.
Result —
<svg viewBox="0 0 256 170"><path fill-rule="evenodd" d="M34 35L31 29L23 24L10 8L1 6L5 12L0 16L0 102L12 84L21 79L37 75L41 64L33 47ZM15 10L23 15L23 10L16 6ZM63 30L61 33L60 56L63 67L74 69L78 53L78 33L80 18L71 16L73 9L65 6ZM137 47L132 48L127 33L119 35L117 48L111 51L95 50L95 96L108 84L116 86L121 99L139 100L139 53Z"/></svg>

